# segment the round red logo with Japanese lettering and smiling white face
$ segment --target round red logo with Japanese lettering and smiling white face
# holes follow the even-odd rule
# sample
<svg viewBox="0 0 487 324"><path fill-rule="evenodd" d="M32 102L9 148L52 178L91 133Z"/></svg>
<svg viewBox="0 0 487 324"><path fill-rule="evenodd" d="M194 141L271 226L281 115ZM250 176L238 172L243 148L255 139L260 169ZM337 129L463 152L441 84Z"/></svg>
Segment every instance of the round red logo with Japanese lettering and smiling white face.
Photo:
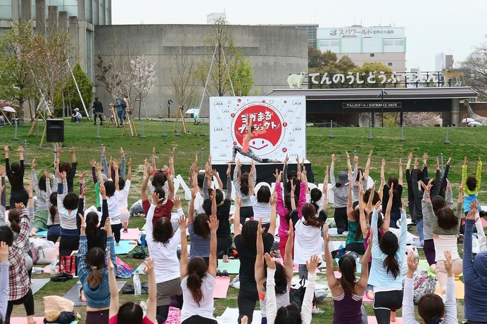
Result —
<svg viewBox="0 0 487 324"><path fill-rule="evenodd" d="M234 143L243 145L247 115L253 126L249 146L254 153L263 156L277 150L284 138L286 123L279 110L265 102L248 103L235 112L231 127Z"/></svg>

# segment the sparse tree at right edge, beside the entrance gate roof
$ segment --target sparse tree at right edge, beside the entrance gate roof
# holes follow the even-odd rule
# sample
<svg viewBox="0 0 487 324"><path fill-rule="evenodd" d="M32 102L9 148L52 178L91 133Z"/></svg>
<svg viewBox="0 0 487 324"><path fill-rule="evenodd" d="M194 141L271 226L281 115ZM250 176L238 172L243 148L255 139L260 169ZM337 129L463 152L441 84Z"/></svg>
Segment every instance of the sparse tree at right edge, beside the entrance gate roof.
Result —
<svg viewBox="0 0 487 324"><path fill-rule="evenodd" d="M464 82L479 93L479 101L487 101L487 42L477 46L460 62Z"/></svg>

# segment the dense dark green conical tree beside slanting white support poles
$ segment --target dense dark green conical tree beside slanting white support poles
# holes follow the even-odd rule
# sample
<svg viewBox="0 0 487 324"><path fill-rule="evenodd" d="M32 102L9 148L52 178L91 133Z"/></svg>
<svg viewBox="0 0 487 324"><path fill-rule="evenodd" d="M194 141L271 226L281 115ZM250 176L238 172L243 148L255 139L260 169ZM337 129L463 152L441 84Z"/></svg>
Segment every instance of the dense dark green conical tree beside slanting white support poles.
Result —
<svg viewBox="0 0 487 324"><path fill-rule="evenodd" d="M72 73L75 74L76 82L80 88L81 96L83 97L84 105L86 105L88 113L90 114L91 99L93 98L93 84L89 81L86 73L81 68L80 63L72 68ZM63 103L64 97L64 103ZM70 108L80 108L83 112L83 104L80 95L76 90L75 80L70 77L68 84L63 88L62 94L57 93L54 98L54 106L63 108L65 105L70 105ZM62 112L54 110L56 116L61 116Z"/></svg>

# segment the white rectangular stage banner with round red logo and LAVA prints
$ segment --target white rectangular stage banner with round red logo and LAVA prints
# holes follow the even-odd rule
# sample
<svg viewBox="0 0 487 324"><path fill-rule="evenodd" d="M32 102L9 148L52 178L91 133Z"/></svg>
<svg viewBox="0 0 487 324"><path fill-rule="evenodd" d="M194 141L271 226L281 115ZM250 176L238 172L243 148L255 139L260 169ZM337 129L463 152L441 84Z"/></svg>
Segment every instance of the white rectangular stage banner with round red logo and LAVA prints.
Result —
<svg viewBox="0 0 487 324"><path fill-rule="evenodd" d="M306 98L210 97L210 154L213 161L232 160L234 145L242 146L250 114L250 148L255 155L284 161L306 157ZM241 161L250 161L237 153Z"/></svg>

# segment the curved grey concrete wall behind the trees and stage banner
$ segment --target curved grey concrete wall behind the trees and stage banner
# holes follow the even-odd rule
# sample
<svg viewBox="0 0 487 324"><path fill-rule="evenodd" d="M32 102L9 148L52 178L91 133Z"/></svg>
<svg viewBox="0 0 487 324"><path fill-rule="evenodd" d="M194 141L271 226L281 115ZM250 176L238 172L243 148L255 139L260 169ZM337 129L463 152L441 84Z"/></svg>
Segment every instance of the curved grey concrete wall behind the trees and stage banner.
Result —
<svg viewBox="0 0 487 324"><path fill-rule="evenodd" d="M189 53L195 61L203 55L208 55L208 48L203 47L203 39L210 28L209 25L112 25L96 26L94 36L94 52L101 53L105 62L108 56L124 55L127 50L114 54L113 39L118 40L121 48L135 48L136 54L144 55L148 60L156 62L157 80L152 93L146 98L146 108L149 117L159 117L161 106L163 117L167 117L167 99L172 98L167 86L170 71L172 47L177 44L180 33L186 34ZM308 34L305 30L285 27L269 26L239 26L231 25L230 31L234 36L234 44L242 48L244 56L251 58L254 73L254 89L259 95L265 95L272 89L286 88L286 79L290 73L308 70ZM213 49L210 50L213 53ZM126 55L126 54L125 54ZM94 67L95 74L98 73ZM195 79L195 84L197 83ZM99 96L104 107L108 108L111 98L103 87L96 81L96 96ZM198 93L203 87L197 89ZM227 96L231 93L227 93ZM200 97L201 98L201 97ZM172 98L173 101L174 98ZM196 105L199 105L199 101ZM177 112L178 103L171 105L171 115ZM186 107L185 109L190 108ZM106 109L108 110L108 109ZM136 108L136 112L137 108ZM142 113L144 115L144 113ZM201 116L208 116L208 97L203 100Z"/></svg>

